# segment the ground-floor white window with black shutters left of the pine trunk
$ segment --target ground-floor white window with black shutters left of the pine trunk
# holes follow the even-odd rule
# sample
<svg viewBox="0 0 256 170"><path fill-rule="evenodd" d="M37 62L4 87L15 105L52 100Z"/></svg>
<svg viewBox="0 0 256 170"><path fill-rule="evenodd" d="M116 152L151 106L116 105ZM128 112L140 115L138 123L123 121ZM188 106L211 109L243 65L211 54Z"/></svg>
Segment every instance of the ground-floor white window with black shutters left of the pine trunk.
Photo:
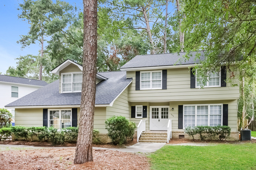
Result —
<svg viewBox="0 0 256 170"><path fill-rule="evenodd" d="M48 127L63 129L72 126L71 109L49 109L48 110Z"/></svg>

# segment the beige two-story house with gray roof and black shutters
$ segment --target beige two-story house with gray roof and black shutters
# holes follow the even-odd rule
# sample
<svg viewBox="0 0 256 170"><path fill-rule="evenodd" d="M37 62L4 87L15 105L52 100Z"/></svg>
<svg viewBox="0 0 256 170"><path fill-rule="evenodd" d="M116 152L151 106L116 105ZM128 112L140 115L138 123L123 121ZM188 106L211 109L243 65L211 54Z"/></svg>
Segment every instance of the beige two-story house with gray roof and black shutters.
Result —
<svg viewBox="0 0 256 170"><path fill-rule="evenodd" d="M94 129L100 131L104 142L110 142L106 138L105 120L113 115L135 122L138 139L142 131L158 134L157 140L148 135L141 142L166 142L166 136L183 137L185 127L199 125L230 126L230 140L238 140L239 87L226 82L230 73L223 66L219 72L209 72L207 86L201 88L200 77L192 72L199 62L196 53L204 59L202 51L192 52L186 61L182 61L182 53L139 55L121 67L121 71L98 72ZM56 128L78 125L82 66L66 60L52 73L60 79L6 106L16 109L17 125ZM238 79L234 82L238 83ZM163 135L167 132L170 135Z"/></svg>

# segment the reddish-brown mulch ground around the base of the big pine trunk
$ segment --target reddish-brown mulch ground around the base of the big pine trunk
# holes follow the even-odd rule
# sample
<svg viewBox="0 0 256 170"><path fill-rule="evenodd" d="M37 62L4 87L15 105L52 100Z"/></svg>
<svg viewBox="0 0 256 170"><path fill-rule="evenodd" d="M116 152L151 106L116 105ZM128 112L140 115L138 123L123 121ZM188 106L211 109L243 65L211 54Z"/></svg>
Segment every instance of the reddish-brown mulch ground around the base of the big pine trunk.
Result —
<svg viewBox="0 0 256 170"><path fill-rule="evenodd" d="M75 149L35 149L0 152L0 169L150 169L142 154L93 150L93 162L74 165Z"/></svg>

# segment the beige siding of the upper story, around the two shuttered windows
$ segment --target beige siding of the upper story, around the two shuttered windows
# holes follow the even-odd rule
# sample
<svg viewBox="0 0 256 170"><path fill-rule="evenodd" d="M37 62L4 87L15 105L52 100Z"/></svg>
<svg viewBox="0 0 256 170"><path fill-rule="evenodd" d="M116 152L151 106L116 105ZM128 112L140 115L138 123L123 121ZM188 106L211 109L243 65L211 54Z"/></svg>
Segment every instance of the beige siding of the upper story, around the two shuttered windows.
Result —
<svg viewBox="0 0 256 170"><path fill-rule="evenodd" d="M190 88L189 68L168 69L166 90L135 90L135 71L127 71L127 78L133 78L129 86L129 102L223 100L239 97L239 87L231 87L229 82L227 87ZM234 79L233 83L239 84L238 79Z"/></svg>

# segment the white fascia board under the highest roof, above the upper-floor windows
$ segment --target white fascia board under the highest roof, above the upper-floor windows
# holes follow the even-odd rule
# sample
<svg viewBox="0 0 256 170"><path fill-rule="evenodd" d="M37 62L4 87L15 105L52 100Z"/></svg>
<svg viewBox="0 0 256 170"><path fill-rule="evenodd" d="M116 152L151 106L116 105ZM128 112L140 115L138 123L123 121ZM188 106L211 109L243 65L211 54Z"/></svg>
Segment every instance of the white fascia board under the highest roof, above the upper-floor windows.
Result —
<svg viewBox="0 0 256 170"><path fill-rule="evenodd" d="M194 67L196 64L183 64L174 66L153 66L153 67L134 67L134 68L120 68L121 71L142 71L142 70L163 70L168 68L189 68Z"/></svg>

